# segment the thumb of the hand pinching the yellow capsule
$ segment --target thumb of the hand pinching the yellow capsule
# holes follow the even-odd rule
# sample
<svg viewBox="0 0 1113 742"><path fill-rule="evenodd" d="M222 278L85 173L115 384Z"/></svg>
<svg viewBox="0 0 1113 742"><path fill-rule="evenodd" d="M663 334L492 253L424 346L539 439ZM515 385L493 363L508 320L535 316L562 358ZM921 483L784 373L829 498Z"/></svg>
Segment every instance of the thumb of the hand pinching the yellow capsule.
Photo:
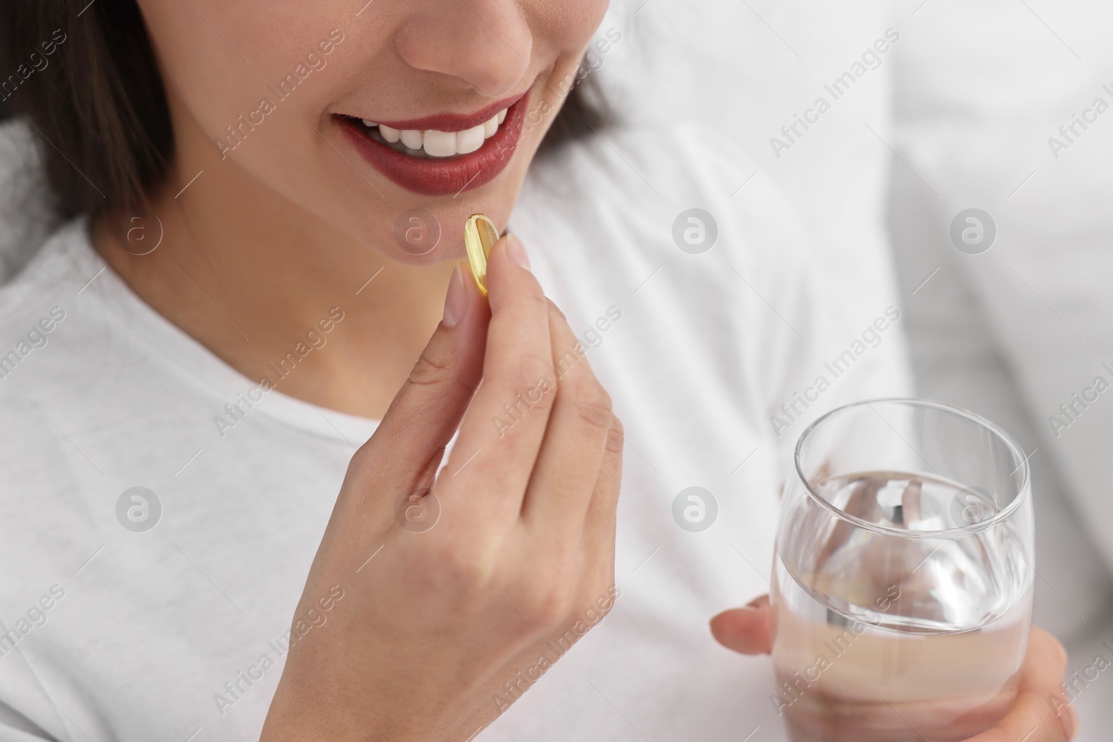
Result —
<svg viewBox="0 0 1113 742"><path fill-rule="evenodd" d="M395 488L427 482L482 376L485 304L456 266L441 324L353 467L368 477L388 476Z"/></svg>

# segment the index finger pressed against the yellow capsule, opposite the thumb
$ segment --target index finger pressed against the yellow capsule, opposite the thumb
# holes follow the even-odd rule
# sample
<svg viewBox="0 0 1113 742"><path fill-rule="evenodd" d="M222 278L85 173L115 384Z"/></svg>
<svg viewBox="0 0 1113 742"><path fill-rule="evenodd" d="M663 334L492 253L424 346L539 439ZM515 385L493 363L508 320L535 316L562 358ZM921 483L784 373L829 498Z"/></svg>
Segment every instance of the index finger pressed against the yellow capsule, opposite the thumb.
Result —
<svg viewBox="0 0 1113 742"><path fill-rule="evenodd" d="M553 403L552 394L539 394L541 379L553 376L549 303L528 266L510 235L487 258L483 384L460 425L449 476L437 483L440 496L463 494L467 509L487 522L519 516Z"/></svg>

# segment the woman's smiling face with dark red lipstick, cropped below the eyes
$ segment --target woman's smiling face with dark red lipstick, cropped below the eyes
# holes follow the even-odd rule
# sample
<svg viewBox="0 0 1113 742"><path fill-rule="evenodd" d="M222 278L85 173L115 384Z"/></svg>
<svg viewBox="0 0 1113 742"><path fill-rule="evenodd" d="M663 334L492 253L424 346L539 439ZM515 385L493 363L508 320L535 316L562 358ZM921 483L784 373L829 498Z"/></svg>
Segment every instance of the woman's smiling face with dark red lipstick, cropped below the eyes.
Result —
<svg viewBox="0 0 1113 742"><path fill-rule="evenodd" d="M432 263L462 254L469 215L505 224L607 0L139 4L178 187L216 170L209 182L273 191L393 259Z"/></svg>

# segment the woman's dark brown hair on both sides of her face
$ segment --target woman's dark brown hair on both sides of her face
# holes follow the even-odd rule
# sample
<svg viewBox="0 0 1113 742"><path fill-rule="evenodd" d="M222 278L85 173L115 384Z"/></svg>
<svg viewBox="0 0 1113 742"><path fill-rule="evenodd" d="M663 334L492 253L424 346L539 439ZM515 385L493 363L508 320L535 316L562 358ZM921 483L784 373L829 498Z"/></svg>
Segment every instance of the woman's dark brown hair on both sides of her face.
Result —
<svg viewBox="0 0 1113 742"><path fill-rule="evenodd" d="M35 127L60 216L135 206L162 185L174 129L136 0L2 0L0 65L0 106ZM573 87L545 151L602 119Z"/></svg>

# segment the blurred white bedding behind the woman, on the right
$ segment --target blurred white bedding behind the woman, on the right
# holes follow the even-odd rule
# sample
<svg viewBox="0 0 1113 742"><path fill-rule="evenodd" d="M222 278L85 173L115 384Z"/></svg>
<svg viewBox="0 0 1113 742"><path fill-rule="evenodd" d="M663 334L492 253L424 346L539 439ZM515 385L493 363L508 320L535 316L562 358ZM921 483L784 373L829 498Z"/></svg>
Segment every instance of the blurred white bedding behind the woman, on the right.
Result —
<svg viewBox="0 0 1113 742"><path fill-rule="evenodd" d="M985 415L1031 455L1036 621L1080 673L1078 739L1113 738L1113 673L1082 674L1113 662L1113 393L1067 428L1048 421L1096 376L1113 382L1113 6L622 0L609 27L623 40L595 80L623 123L728 133L795 202L853 316L897 293L919 395ZM837 99L825 88L881 47ZM819 97L829 110L789 139L781 127ZM1092 122L1067 139L1075 116ZM968 208L996 225L978 255L949 237Z"/></svg>

